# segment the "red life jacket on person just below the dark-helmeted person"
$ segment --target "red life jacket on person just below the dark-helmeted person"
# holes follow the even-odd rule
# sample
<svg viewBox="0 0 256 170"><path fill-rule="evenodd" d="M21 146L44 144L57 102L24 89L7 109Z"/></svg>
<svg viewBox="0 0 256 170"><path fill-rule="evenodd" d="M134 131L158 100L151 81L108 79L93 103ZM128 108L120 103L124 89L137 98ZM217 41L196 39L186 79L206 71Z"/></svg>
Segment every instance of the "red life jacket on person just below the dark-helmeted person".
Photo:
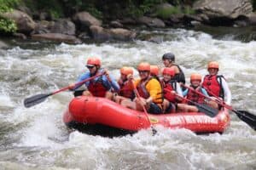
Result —
<svg viewBox="0 0 256 170"><path fill-rule="evenodd" d="M161 81L161 85L163 88L163 94L164 98L167 99L168 101L172 103L176 103L176 96L175 94L172 94L171 91L176 91L176 81L171 80L170 82L164 82L163 80Z"/></svg>

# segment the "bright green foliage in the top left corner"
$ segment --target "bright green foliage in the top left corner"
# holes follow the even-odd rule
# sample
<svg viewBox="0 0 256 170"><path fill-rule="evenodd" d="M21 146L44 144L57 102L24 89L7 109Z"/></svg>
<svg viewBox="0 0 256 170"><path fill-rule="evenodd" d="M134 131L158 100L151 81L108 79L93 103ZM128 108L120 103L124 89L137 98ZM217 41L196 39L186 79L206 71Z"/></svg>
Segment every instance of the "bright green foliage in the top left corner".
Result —
<svg viewBox="0 0 256 170"><path fill-rule="evenodd" d="M11 11L18 3L19 0L0 0L0 15ZM17 31L15 21L0 16L0 32L9 34L15 31Z"/></svg>

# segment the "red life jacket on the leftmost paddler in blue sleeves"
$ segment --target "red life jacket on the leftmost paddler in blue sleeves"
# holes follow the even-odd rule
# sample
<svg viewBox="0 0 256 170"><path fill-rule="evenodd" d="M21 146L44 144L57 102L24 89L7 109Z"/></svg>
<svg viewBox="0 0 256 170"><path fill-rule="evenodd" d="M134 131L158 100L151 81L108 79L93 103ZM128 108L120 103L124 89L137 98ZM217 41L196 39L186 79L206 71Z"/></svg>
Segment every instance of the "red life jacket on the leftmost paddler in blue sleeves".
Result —
<svg viewBox="0 0 256 170"><path fill-rule="evenodd" d="M96 97L105 97L108 89L103 85L102 77L99 77L97 80L91 80L88 86L88 90L93 96Z"/></svg>

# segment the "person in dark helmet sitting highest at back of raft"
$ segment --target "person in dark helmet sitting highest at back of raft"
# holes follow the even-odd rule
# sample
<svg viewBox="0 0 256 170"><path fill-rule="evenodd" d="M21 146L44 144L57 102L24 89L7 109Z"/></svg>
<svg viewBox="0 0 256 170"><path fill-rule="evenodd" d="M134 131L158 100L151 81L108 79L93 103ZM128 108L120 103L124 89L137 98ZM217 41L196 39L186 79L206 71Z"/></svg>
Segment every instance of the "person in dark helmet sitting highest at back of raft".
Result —
<svg viewBox="0 0 256 170"><path fill-rule="evenodd" d="M165 67L170 67L175 71L174 79L177 82L185 84L185 76L179 65L175 64L175 55L172 53L166 53L162 56L162 61Z"/></svg>

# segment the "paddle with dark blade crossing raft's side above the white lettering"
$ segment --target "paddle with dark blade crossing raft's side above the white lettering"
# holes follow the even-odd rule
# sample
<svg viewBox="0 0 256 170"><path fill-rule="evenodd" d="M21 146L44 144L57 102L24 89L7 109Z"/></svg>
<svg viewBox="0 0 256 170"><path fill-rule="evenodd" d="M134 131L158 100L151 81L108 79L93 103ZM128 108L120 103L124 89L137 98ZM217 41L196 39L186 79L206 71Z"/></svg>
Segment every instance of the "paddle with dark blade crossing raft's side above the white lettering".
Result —
<svg viewBox="0 0 256 170"><path fill-rule="evenodd" d="M196 103L190 99L183 98L179 94L174 94L174 95L195 105L200 112L205 113L207 116L214 117L214 116L218 115L218 109L214 109L214 108L210 107L209 105Z"/></svg>

